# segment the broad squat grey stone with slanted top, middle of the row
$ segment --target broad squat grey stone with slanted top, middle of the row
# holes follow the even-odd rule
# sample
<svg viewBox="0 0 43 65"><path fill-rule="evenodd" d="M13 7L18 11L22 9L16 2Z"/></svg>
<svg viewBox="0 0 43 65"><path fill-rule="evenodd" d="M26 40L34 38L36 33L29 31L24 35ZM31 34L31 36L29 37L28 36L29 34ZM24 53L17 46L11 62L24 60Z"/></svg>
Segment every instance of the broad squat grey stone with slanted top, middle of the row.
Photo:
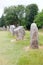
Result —
<svg viewBox="0 0 43 65"><path fill-rule="evenodd" d="M23 26L18 26L16 29L14 29L14 33L16 35L16 40L23 40L25 35L25 30Z"/></svg>

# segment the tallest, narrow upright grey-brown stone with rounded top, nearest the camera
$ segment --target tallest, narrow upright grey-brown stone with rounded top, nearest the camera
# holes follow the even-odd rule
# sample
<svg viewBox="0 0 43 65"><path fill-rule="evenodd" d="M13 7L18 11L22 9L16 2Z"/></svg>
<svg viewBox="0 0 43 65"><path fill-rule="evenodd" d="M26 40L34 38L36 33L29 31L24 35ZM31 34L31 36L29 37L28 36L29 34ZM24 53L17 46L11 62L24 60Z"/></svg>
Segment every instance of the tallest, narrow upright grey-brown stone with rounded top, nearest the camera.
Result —
<svg viewBox="0 0 43 65"><path fill-rule="evenodd" d="M35 23L31 24L30 37L31 37L30 47L35 49L38 48L38 28Z"/></svg>

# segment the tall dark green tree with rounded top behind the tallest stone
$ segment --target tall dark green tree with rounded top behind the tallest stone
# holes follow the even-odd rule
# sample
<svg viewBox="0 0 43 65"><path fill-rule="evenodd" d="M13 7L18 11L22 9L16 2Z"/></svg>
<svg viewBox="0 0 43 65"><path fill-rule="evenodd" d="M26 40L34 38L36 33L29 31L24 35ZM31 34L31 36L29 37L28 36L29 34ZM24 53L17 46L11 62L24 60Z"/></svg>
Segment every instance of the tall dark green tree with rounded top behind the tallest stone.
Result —
<svg viewBox="0 0 43 65"><path fill-rule="evenodd" d="M30 29L31 23L33 23L35 15L38 13L38 6L36 4L30 4L26 6L26 27Z"/></svg>

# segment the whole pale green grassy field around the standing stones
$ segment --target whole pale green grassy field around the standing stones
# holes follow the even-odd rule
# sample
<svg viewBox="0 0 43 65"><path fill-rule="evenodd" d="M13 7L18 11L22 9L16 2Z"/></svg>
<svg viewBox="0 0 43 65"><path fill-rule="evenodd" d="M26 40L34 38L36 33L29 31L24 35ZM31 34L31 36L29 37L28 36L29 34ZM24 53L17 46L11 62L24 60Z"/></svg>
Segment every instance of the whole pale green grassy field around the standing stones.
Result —
<svg viewBox="0 0 43 65"><path fill-rule="evenodd" d="M39 49L29 49L30 32L16 41L7 31L0 31L0 65L43 65L43 30L39 31Z"/></svg>

